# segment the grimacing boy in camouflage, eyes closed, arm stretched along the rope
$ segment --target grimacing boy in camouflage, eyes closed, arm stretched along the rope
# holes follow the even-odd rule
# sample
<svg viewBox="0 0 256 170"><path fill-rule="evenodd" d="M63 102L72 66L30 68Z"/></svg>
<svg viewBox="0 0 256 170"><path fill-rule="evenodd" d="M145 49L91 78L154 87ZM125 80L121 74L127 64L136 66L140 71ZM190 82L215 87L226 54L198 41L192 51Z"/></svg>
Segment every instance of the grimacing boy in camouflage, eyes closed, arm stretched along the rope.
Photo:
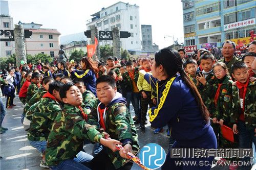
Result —
<svg viewBox="0 0 256 170"><path fill-rule="evenodd" d="M48 136L46 162L52 169L84 169L86 166L77 163L90 161L92 156L82 152L84 139L100 142L116 151L115 144L119 141L106 140L95 126L87 123L87 114L82 105L82 94L72 83L64 84L60 89L60 98L65 103L62 112L54 120Z"/></svg>

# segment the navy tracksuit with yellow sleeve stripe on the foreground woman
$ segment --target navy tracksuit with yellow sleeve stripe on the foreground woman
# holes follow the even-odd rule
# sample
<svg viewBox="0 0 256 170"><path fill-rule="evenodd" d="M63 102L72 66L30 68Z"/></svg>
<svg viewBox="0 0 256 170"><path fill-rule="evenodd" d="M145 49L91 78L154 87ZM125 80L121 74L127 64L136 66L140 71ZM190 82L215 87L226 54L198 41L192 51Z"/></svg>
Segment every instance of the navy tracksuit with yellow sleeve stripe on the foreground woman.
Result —
<svg viewBox="0 0 256 170"><path fill-rule="evenodd" d="M210 126L201 115L196 99L190 88L183 82L180 75L172 79L158 81L146 74L145 80L157 86L157 106L151 108L150 122L153 127L171 127L170 135L176 140L172 148L203 148L217 149L217 139ZM158 81L158 82L157 82ZM177 166L177 160L211 161L208 158L170 158L168 152L162 169L210 169L206 166Z"/></svg>

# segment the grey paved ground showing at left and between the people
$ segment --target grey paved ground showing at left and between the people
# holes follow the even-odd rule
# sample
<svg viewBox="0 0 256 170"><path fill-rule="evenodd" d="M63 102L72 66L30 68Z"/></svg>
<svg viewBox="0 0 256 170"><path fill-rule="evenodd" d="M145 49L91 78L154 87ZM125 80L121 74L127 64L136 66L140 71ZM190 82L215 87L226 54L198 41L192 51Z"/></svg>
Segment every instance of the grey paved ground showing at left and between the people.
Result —
<svg viewBox="0 0 256 170"><path fill-rule="evenodd" d="M5 101L5 98L2 98ZM27 140L27 133L24 131L22 124L20 123L20 115L23 112L23 104L19 101L18 98L14 99L14 104L16 107L12 109L7 109L7 114L5 116L3 126L9 130L1 134L0 139L0 155L3 156L3 159L0 160L0 169L7 170L16 170L16 169L44 169L39 166L40 164L40 155L31 147ZM134 110L131 107L131 113L134 115ZM166 129L166 127L164 127ZM137 132L139 136L139 144L141 148L147 143L158 143L160 144L165 151L168 149L168 137L166 132L160 134L154 134L154 129L150 127L150 124L146 126L146 132L141 134L139 127L137 126ZM86 152L92 152L92 144L87 144L84 146ZM136 164L132 167L132 170L141 169ZM160 169L160 168L159 168ZM215 166L212 169L228 169L228 167ZM255 170L255 168L253 168Z"/></svg>

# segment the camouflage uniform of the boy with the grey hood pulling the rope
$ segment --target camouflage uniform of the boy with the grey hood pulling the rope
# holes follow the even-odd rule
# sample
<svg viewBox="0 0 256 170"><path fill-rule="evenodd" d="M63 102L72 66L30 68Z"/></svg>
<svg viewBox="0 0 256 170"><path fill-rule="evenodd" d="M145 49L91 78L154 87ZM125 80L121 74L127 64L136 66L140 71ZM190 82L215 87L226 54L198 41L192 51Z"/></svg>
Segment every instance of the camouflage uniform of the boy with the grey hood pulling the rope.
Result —
<svg viewBox="0 0 256 170"><path fill-rule="evenodd" d="M94 107L88 116L88 123L90 125L95 125L98 128L100 128L97 114L97 106L99 103L99 100L95 102ZM124 103L115 103L106 110L105 115L105 132L108 133L112 139L132 139L132 149L136 154L139 151L139 141L129 109L126 108ZM129 162L129 160L122 158L119 155L119 152L112 152L109 148L106 148L106 153L109 155L109 158L116 169Z"/></svg>

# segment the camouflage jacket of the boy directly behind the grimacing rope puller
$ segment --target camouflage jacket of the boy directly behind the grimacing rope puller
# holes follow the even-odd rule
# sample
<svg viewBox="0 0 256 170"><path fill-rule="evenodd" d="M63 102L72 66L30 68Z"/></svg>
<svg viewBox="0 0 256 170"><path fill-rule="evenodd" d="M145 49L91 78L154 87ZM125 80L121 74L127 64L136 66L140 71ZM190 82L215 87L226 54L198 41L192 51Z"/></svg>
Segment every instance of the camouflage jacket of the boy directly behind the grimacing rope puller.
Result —
<svg viewBox="0 0 256 170"><path fill-rule="evenodd" d="M46 93L46 95L40 100L34 111L28 131L28 140L47 140L53 121L57 114L61 112L61 108L56 99L54 100L54 97L49 92Z"/></svg>

